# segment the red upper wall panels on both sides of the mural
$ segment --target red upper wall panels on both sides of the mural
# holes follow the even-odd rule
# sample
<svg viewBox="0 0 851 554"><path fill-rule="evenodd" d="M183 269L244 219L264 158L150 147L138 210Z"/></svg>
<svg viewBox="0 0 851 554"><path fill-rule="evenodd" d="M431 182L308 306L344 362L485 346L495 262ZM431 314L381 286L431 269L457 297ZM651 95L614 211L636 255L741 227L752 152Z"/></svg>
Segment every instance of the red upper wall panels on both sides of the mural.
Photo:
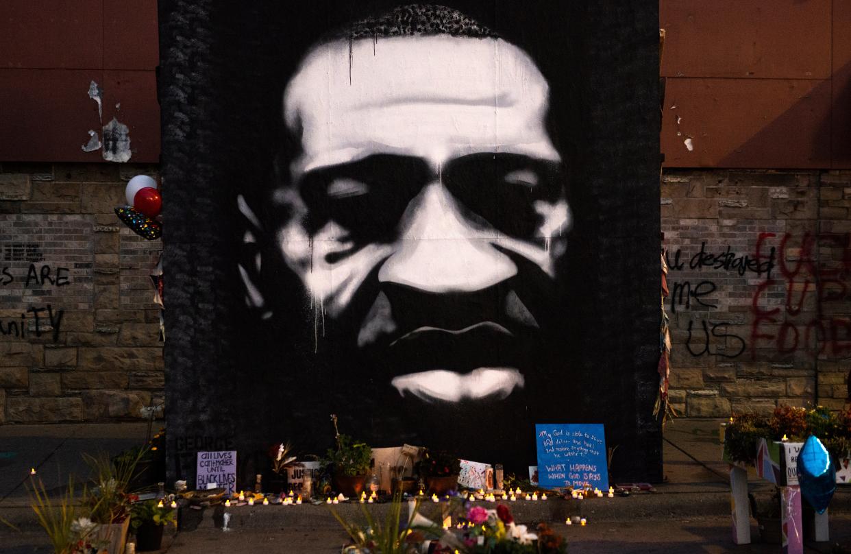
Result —
<svg viewBox="0 0 851 554"><path fill-rule="evenodd" d="M661 0L660 26L665 167L851 168L851 2ZM116 117L157 162L157 60L156 0L5 0L0 160L103 161Z"/></svg>

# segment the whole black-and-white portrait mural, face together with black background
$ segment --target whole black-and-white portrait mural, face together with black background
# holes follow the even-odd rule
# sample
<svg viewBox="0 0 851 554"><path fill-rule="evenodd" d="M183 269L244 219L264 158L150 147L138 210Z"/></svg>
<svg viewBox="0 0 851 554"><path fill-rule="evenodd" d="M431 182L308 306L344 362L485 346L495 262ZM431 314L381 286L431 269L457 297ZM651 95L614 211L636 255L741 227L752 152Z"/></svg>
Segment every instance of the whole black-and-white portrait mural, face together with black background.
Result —
<svg viewBox="0 0 851 554"><path fill-rule="evenodd" d="M250 418L232 424L244 448L274 437L321 453L336 414L374 447L518 474L535 423L602 421L625 443L655 391L658 248L634 237L646 218L658 243L659 201L658 159L641 157L658 130L631 105L658 111L645 91L658 60L621 65L638 51L623 17L593 3L260 6L216 20L230 61L210 79L230 92L203 123L224 146L204 158L220 188L200 196L231 210L208 225L229 237L217 294L236 317L215 322L214 363L232 389L217 406L237 415L198 428ZM654 17L636 20L653 31ZM618 76L645 66L649 84L626 94ZM180 390L198 386L185 375Z"/></svg>

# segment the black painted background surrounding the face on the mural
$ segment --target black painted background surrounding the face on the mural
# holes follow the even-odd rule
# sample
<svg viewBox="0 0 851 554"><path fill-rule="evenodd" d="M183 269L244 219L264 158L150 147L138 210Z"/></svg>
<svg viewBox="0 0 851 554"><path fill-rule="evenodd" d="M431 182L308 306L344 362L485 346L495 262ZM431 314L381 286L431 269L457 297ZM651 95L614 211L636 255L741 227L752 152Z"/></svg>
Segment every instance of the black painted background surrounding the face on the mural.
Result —
<svg viewBox="0 0 851 554"><path fill-rule="evenodd" d="M547 130L568 163L574 225L556 280L533 300L555 314L539 352L545 370L527 375L523 395L505 402L447 405L402 399L373 379L347 350L351 328L323 321L285 260L264 250L274 244L258 246L263 281L278 292L271 318L244 307L237 271L237 260L249 264L255 253L243 245L237 196L274 216L263 194L276 179L271 160L288 146L281 98L302 55L329 29L395 3L222 4L159 5L169 480L194 477L197 450L238 448L248 486L266 470L271 443L292 439L301 453L323 452L333 440L330 413L340 414L341 431L376 447L450 448L516 471L534 464L535 421L602 421L608 446L618 445L613 477L660 480L661 435L651 415L658 5L452 4L523 48L545 75ZM471 310L488 302L477 301Z"/></svg>

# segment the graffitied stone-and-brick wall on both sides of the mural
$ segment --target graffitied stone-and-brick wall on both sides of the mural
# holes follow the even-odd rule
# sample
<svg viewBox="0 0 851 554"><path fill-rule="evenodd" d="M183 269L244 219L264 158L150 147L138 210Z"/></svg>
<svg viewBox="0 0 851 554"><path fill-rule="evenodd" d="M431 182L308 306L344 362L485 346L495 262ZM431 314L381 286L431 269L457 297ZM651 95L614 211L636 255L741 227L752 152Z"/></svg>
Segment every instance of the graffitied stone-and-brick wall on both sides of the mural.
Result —
<svg viewBox="0 0 851 554"><path fill-rule="evenodd" d="M112 212L130 177L155 172L0 166L0 422L120 420L163 402L148 277L161 243ZM851 172L666 169L662 180L675 408L842 408Z"/></svg>

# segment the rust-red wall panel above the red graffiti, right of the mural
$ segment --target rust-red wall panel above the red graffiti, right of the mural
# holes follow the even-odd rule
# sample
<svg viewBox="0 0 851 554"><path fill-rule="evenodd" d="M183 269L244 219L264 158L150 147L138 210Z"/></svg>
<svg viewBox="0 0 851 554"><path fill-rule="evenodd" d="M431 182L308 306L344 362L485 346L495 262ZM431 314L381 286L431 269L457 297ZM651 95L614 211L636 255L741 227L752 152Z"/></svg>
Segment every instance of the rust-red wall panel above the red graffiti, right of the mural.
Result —
<svg viewBox="0 0 851 554"><path fill-rule="evenodd" d="M851 168L851 3L662 0L660 26L665 167Z"/></svg>

